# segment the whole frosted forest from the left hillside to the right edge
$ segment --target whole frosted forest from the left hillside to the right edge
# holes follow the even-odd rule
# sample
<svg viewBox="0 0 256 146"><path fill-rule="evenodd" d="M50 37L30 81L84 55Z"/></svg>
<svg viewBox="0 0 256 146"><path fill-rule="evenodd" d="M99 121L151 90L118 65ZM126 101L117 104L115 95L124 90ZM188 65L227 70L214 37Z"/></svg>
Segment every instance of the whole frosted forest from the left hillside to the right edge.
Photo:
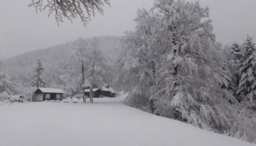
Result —
<svg viewBox="0 0 256 146"><path fill-rule="evenodd" d="M93 68L92 54L83 52L92 39L3 60L0 93L29 96L40 58L46 86L67 95L79 93L88 81L90 86L107 83L129 94L129 106L256 142L255 44L250 36L242 44L216 42L209 16L210 9L199 2L156 0L151 9L138 10L134 31L122 38L99 37L102 55ZM84 73L95 70L97 76L81 80L81 63Z"/></svg>

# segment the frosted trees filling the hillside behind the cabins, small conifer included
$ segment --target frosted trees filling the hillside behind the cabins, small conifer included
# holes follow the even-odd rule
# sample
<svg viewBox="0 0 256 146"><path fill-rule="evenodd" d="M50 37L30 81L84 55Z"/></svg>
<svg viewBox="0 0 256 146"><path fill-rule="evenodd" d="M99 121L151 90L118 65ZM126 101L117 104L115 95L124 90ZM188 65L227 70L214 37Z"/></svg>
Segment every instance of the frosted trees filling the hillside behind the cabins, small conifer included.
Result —
<svg viewBox="0 0 256 146"><path fill-rule="evenodd" d="M79 39L74 42L68 42L44 50L32 51L15 58L3 60L0 67L0 83L3 85L0 88L1 93L6 91L12 95L22 94L27 99L30 99L30 94L32 91L35 91L35 87L45 86L61 88L65 91L66 96L81 93L83 90L81 85L84 84L81 60L84 60L84 77L88 79L88 63L94 55L94 47L92 47L92 44L95 44L94 42L98 43L96 43L95 53L100 52L100 55L95 54L97 56L95 60L99 61L97 61L98 63L96 63L94 68L97 68L97 64L102 62L102 66L106 69L106 71L102 72L103 81L106 84L112 84L115 48L119 46L119 40L120 37ZM87 53L88 58L86 56L84 56L84 59L79 57L81 55L79 54L80 42L84 42L80 49L82 49L82 53ZM38 58L40 60L37 60ZM93 85L93 87L96 87L96 85ZM84 88L86 87L84 86Z"/></svg>

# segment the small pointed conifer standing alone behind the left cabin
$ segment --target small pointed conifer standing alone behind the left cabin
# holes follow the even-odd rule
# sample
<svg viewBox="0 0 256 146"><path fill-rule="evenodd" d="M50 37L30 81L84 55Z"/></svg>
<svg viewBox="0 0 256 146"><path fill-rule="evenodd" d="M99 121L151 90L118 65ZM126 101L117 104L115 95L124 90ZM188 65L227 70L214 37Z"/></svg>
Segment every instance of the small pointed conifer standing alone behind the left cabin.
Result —
<svg viewBox="0 0 256 146"><path fill-rule="evenodd" d="M32 75L32 83L31 86L35 86L37 88L45 87L45 81L43 81L43 65L40 59L37 60L37 66L35 67L35 74Z"/></svg>

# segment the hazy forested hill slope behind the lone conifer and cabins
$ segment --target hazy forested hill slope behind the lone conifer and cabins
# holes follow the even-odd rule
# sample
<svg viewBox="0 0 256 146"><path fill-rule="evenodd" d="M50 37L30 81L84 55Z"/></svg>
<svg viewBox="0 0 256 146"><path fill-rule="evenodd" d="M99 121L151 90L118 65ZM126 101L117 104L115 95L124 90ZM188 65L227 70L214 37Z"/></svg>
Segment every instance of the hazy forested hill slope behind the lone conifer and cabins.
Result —
<svg viewBox="0 0 256 146"><path fill-rule="evenodd" d="M121 37L98 37L99 46L107 60L114 65L118 58ZM92 40L88 38L87 40ZM76 67L77 56L75 41L66 44L49 47L42 50L30 51L14 58L3 61L4 69L8 70L11 80L14 81L14 93L22 93L30 96L31 75L34 72L37 59L43 63L43 78L46 86L52 88L62 88L67 93L72 94L79 90L80 70Z"/></svg>

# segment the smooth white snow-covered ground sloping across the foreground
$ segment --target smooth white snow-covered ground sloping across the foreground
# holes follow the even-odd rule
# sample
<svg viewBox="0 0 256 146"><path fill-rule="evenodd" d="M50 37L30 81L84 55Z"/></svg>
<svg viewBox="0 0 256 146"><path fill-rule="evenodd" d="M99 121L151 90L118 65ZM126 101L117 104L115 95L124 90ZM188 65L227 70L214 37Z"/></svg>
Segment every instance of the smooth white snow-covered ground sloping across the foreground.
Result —
<svg viewBox="0 0 256 146"><path fill-rule="evenodd" d="M0 146L252 145L122 104L35 102L0 106Z"/></svg>

